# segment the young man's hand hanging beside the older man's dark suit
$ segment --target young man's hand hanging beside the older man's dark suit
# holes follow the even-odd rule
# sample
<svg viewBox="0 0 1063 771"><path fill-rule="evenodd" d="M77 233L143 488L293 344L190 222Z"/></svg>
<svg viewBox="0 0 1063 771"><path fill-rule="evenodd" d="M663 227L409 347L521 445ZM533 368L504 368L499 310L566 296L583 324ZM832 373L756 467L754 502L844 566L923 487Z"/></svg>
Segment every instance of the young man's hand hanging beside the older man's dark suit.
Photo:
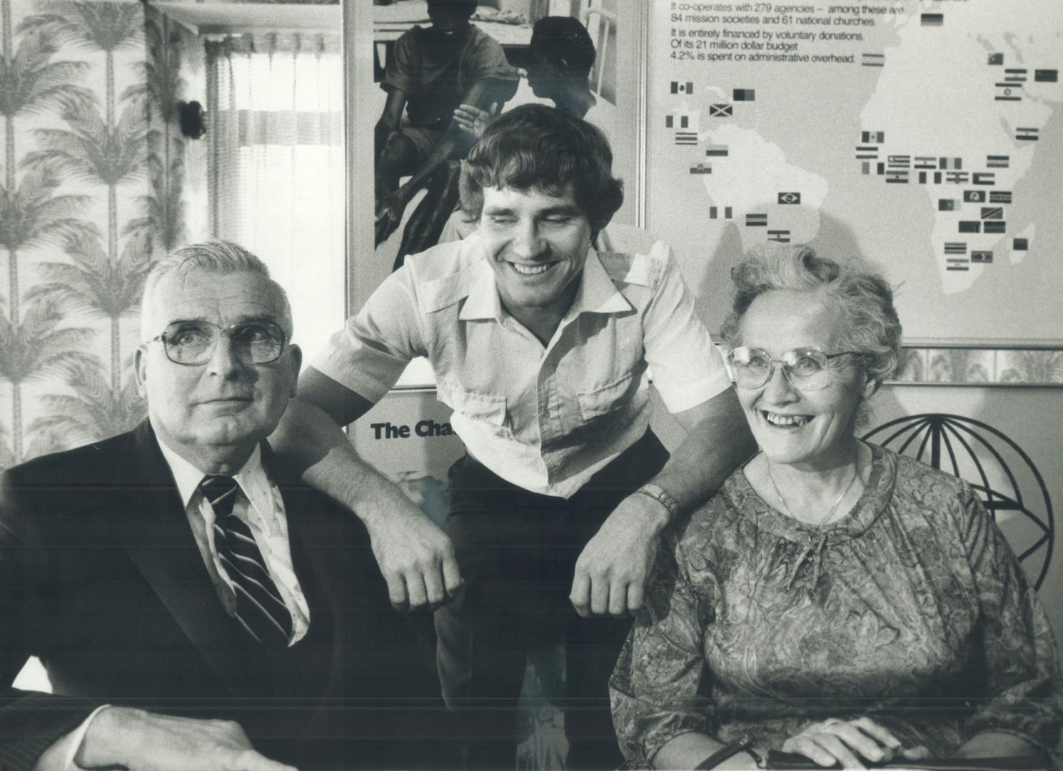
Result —
<svg viewBox="0 0 1063 771"><path fill-rule="evenodd" d="M364 517L373 556L388 584L388 598L399 610L435 610L461 586L454 546L407 499L392 499L388 508Z"/></svg>

